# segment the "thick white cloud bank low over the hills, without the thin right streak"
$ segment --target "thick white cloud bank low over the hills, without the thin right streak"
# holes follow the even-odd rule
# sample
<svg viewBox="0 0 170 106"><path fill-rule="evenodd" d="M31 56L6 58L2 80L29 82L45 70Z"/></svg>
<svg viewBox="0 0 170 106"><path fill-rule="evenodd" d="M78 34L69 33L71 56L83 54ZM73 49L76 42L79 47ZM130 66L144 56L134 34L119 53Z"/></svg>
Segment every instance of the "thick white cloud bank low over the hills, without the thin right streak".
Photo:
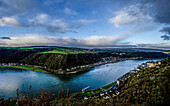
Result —
<svg viewBox="0 0 170 106"><path fill-rule="evenodd" d="M110 46L117 44L120 36L90 36L88 38L68 38L28 34L23 37L0 39L0 46Z"/></svg>

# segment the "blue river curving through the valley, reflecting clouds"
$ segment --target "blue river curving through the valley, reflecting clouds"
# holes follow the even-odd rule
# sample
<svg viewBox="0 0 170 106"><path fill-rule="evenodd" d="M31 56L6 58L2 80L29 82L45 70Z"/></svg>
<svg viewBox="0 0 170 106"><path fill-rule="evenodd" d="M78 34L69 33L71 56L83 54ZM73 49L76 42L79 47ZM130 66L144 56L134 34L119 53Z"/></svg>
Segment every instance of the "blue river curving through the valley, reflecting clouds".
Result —
<svg viewBox="0 0 170 106"><path fill-rule="evenodd" d="M155 59L156 60L156 59ZM67 89L70 93L81 92L87 86L95 89L116 81L134 67L149 60L126 60L118 63L109 63L92 68L88 72L75 75L52 75L47 73L22 70L15 68L0 68L0 98L16 96L16 89L29 90L39 93L40 88L51 94L58 94L58 90Z"/></svg>

